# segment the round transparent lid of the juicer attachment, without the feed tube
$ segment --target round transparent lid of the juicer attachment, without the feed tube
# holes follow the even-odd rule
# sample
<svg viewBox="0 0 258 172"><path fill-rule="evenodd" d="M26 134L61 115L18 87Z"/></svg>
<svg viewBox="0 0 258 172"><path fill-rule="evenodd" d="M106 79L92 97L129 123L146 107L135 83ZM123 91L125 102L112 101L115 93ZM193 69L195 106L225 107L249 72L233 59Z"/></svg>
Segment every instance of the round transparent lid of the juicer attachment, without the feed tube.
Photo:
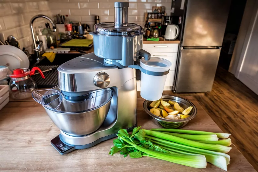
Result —
<svg viewBox="0 0 258 172"><path fill-rule="evenodd" d="M93 32L98 35L110 36L135 36L144 33L141 25L128 23L127 26L117 28L114 26L114 22L98 23L94 26Z"/></svg>

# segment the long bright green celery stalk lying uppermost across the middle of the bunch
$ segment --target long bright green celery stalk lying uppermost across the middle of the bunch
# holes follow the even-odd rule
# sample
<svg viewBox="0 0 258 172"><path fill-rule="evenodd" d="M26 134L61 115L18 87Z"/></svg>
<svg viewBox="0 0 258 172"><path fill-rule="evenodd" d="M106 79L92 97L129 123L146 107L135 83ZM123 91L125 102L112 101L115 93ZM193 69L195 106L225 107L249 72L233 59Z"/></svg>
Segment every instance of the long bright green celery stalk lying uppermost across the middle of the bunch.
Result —
<svg viewBox="0 0 258 172"><path fill-rule="evenodd" d="M187 140L184 138L172 136L169 134L164 134L164 133L157 132L157 131L145 130L145 133L149 136L161 138L161 139L164 139L167 141L172 141L175 143L184 144L184 145L197 147L197 148L201 148L201 149L207 149L207 150L211 150L211 151L219 151L219 152L227 153L231 150L231 147L227 147L227 146L223 146L223 145L219 145L219 144L199 143L196 141Z"/></svg>

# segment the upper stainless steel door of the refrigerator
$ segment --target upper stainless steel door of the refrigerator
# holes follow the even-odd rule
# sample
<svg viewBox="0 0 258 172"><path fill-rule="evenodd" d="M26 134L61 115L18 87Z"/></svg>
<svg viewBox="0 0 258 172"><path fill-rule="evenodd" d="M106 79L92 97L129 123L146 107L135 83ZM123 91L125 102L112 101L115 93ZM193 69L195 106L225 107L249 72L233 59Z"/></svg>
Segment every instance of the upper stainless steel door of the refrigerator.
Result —
<svg viewBox="0 0 258 172"><path fill-rule="evenodd" d="M182 46L221 46L230 0L188 0Z"/></svg>

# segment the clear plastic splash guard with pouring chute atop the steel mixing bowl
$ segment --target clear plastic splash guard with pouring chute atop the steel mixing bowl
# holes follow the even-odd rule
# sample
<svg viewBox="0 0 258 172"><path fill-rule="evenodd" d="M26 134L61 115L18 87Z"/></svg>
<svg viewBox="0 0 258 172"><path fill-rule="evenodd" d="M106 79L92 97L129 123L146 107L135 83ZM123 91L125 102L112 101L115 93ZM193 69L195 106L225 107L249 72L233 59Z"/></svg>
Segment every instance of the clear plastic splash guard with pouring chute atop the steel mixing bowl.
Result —
<svg viewBox="0 0 258 172"><path fill-rule="evenodd" d="M93 111L104 106L111 101L113 91L110 89L93 91L81 96L83 99L79 101L71 101L66 99L58 87L55 87L49 90L33 91L32 97L50 111L74 114Z"/></svg>

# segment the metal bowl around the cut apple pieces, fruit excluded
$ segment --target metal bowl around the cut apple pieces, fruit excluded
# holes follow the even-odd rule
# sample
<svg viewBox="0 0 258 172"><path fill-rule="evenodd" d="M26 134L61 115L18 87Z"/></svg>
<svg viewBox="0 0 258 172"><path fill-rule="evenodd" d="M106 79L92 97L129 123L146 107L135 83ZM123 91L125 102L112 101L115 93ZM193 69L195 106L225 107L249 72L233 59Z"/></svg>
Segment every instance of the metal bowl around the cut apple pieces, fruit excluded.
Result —
<svg viewBox="0 0 258 172"><path fill-rule="evenodd" d="M152 114L149 110L150 109L149 106L150 106L152 101L145 100L144 103L143 103L144 111L153 118L153 120L156 124L159 124L162 127L165 127L165 128L181 128L181 127L184 127L197 114L197 109L196 109L195 105L192 102L190 102L190 101L188 101L188 100L186 100L182 97L172 96L172 95L162 95L161 98L163 100L167 100L167 101L168 100L176 101L184 109L188 108L189 106L193 107L192 111L189 113L190 117L185 118L185 119L179 119L179 120L170 120L170 119L161 118L161 117L158 117L158 116Z"/></svg>

